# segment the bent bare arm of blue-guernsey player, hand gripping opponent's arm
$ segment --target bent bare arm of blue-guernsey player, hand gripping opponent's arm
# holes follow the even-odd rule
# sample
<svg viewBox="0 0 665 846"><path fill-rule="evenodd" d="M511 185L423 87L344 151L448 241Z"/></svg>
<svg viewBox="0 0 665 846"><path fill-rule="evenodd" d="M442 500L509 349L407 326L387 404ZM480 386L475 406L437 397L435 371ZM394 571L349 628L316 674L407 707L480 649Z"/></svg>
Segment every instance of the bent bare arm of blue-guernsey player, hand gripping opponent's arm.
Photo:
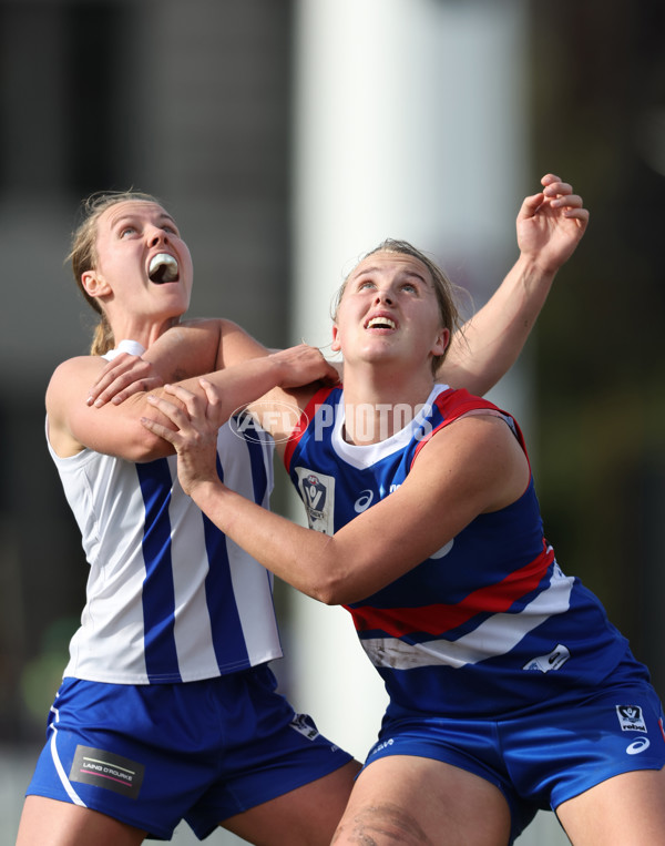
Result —
<svg viewBox="0 0 665 846"><path fill-rule="evenodd" d="M406 481L332 537L305 529L231 491L215 468L216 391L173 389L182 405L154 398L176 427L144 426L178 452L183 489L250 555L327 604L364 599L443 547L478 514L513 502L529 480L526 458L508 426L489 416L457 420L422 449Z"/></svg>

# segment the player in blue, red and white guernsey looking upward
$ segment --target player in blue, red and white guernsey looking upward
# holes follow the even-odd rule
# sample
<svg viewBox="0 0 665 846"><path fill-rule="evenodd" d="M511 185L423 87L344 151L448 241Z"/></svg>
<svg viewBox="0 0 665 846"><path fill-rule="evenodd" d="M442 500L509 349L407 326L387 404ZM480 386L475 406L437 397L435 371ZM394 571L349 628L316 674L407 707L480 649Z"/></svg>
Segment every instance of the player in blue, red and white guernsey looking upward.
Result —
<svg viewBox="0 0 665 846"><path fill-rule="evenodd" d="M580 220L580 218L579 218ZM491 402L434 383L450 285L388 241L347 277L332 328L344 387L276 390L310 529L228 490L219 395L183 388L144 426L227 537L350 612L389 705L334 843L512 843L553 808L575 846L665 843L663 710L646 667L543 534L524 440ZM152 416L151 416L152 417ZM276 416L267 417L276 422Z"/></svg>

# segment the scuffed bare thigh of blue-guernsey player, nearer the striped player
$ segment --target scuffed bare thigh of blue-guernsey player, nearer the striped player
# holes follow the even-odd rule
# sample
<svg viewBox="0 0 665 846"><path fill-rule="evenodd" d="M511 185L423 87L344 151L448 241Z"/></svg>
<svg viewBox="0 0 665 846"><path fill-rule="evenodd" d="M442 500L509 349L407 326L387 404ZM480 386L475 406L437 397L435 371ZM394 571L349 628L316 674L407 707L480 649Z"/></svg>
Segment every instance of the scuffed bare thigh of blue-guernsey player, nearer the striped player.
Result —
<svg viewBox="0 0 665 846"><path fill-rule="evenodd" d="M510 829L508 802L487 779L441 761L392 755L358 776L332 843L507 846Z"/></svg>

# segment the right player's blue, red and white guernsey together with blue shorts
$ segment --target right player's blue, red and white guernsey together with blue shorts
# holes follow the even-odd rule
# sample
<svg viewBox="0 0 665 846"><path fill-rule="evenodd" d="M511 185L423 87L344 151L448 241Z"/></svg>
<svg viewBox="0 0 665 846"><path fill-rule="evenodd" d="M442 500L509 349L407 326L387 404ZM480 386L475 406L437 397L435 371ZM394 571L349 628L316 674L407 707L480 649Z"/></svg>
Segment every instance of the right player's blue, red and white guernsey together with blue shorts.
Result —
<svg viewBox="0 0 665 846"><path fill-rule="evenodd" d="M513 417L466 390L436 385L403 429L368 446L344 438L342 389L318 391L284 456L309 527L334 534L389 497L415 461L428 460L439 430L474 414L503 419L526 452ZM665 762L648 671L597 598L559 567L531 475L512 504L479 514L419 565L345 607L389 694L366 766L417 755L490 781L511 811L510 843L539 808Z"/></svg>

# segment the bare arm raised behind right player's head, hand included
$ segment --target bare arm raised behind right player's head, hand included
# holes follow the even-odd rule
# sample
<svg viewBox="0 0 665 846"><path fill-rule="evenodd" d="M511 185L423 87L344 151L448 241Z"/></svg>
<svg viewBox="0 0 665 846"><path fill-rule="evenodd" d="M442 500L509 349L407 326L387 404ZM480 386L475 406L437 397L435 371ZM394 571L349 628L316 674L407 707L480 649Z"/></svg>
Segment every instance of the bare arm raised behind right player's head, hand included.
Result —
<svg viewBox="0 0 665 846"><path fill-rule="evenodd" d="M437 378L482 396L518 359L556 272L575 252L589 211L554 174L525 197L518 214L520 256L491 299L451 343Z"/></svg>

